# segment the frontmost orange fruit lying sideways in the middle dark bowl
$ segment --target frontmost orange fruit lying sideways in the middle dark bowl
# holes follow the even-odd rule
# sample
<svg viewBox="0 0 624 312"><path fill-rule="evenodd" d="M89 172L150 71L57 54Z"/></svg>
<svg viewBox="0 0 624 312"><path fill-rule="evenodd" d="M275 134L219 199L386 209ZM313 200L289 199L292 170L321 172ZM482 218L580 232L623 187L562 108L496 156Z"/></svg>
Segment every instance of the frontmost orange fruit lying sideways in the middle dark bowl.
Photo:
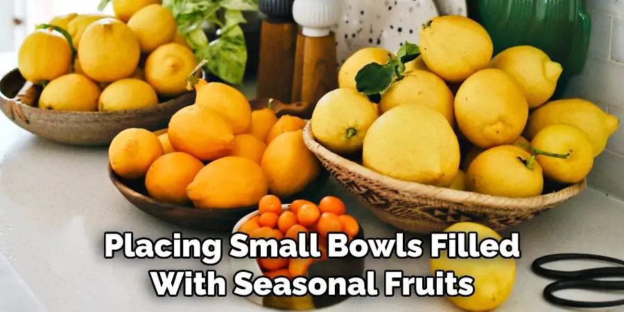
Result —
<svg viewBox="0 0 624 312"><path fill-rule="evenodd" d="M228 209L258 205L267 194L262 168L243 157L223 157L207 164L187 187L200 209Z"/></svg>

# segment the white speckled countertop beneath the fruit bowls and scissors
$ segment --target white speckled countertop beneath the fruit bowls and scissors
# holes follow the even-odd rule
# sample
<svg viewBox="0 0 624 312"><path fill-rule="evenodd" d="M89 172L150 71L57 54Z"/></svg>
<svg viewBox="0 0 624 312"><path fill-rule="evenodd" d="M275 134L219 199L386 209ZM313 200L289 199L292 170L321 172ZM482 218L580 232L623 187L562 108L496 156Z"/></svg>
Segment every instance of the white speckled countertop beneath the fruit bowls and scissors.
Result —
<svg viewBox="0 0 624 312"><path fill-rule="evenodd" d="M0 54L1 72L10 69L10 64L15 64L15 55ZM209 269L199 260L104 259L105 231L132 231L135 237L157 239L179 230L130 205L108 180L106 168L105 148L45 141L0 116L0 311L270 311L233 295L155 296L148 270ZM361 221L367 236L394 234L394 229L376 220L337 185L329 185L327 193L345 198L349 214ZM531 261L555 252L624 259L623 217L623 202L587 189L578 198L512 229L521 233L523 257L517 261L514 293L497 311L563 311L541 299L548 281L530 272ZM186 230L184 236L225 238ZM11 266L3 262L2 255ZM387 269L428 275L426 258L367 259L366 266L378 271L378 279ZM215 269L231 281L227 259ZM381 281L378 285L383 287ZM575 296L610 299L591 293ZM327 309L347 310L458 311L442 298L422 297L352 298Z"/></svg>

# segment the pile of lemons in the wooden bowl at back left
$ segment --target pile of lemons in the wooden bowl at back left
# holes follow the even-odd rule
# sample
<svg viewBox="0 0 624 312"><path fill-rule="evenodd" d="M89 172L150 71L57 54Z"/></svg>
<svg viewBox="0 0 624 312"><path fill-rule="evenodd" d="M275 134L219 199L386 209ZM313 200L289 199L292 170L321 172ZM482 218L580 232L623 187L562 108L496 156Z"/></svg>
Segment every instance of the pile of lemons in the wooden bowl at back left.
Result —
<svg viewBox="0 0 624 312"><path fill-rule="evenodd" d="M160 0L113 1L116 17L71 13L26 37L18 69L43 110L135 110L186 92L198 64Z"/></svg>

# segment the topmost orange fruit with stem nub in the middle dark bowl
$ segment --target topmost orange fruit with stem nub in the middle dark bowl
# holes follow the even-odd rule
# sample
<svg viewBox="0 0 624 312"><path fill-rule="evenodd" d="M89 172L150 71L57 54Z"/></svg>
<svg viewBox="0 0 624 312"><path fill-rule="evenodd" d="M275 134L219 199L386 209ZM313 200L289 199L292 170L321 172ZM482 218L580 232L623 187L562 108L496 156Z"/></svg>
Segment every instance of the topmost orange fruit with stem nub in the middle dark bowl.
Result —
<svg viewBox="0 0 624 312"><path fill-rule="evenodd" d="M196 92L195 105L218 112L225 121L232 125L234 135L249 130L252 113L245 94L225 83L201 83L196 85Z"/></svg>

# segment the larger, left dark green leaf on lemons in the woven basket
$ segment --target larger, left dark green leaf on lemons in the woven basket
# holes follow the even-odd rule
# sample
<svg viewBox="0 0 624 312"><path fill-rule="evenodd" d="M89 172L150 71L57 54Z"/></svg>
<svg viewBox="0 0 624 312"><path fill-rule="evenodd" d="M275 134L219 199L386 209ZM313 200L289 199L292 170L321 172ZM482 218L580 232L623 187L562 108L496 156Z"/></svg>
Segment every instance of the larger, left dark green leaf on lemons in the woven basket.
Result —
<svg viewBox="0 0 624 312"><path fill-rule="evenodd" d="M390 87L393 78L395 78L393 64L370 63L358 71L356 87L358 92L366 96L381 94Z"/></svg>

